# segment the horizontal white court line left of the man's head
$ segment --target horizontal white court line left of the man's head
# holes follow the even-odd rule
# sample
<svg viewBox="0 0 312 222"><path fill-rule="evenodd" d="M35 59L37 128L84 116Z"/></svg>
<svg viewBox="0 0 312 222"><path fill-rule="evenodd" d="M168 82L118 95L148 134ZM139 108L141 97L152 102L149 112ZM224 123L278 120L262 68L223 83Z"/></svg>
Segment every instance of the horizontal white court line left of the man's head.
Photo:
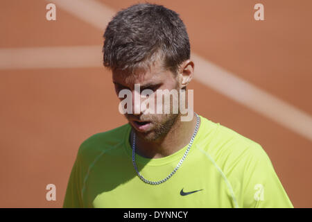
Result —
<svg viewBox="0 0 312 222"><path fill-rule="evenodd" d="M0 49L0 69L103 67L101 46Z"/></svg>

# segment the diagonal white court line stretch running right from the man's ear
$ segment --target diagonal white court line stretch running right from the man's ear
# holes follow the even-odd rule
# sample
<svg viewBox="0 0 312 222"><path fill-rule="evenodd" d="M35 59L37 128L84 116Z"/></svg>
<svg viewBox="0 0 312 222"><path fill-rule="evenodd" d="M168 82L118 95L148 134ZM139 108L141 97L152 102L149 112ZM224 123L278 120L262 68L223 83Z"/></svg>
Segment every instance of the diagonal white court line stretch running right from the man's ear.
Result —
<svg viewBox="0 0 312 222"><path fill-rule="evenodd" d="M312 140L312 117L229 71L192 53L195 78L251 110L272 119L293 132Z"/></svg>

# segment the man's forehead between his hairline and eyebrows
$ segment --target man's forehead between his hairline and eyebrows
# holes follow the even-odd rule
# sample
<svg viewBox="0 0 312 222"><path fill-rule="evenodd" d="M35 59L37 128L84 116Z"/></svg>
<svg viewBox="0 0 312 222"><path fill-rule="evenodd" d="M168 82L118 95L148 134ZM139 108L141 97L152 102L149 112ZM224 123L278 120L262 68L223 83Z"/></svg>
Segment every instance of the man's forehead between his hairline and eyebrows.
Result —
<svg viewBox="0 0 312 222"><path fill-rule="evenodd" d="M165 81L173 80L173 74L171 71L164 69L159 63L151 66L147 70L137 70L133 74L126 71L113 71L112 79L114 83L119 83L124 86L132 86L135 84L147 84L147 83L162 83Z"/></svg>

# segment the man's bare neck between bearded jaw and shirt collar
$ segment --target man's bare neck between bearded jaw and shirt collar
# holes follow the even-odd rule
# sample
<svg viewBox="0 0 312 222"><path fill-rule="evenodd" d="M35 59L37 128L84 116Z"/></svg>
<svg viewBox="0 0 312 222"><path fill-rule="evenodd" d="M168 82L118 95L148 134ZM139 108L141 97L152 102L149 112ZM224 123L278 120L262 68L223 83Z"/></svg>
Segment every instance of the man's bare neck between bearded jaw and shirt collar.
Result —
<svg viewBox="0 0 312 222"><path fill-rule="evenodd" d="M161 158L171 155L189 144L196 127L196 114L191 121L181 121L180 116L163 137L155 141L146 141L135 137L135 152L146 158ZM130 135L130 144L133 142L133 131Z"/></svg>

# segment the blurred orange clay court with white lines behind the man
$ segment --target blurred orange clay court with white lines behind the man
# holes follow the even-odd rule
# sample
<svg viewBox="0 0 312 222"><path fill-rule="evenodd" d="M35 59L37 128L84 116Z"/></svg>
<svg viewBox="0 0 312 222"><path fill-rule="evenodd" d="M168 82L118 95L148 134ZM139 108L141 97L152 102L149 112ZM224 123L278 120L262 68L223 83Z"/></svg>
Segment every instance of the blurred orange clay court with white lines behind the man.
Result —
<svg viewBox="0 0 312 222"><path fill-rule="evenodd" d="M80 144L126 123L101 50L138 2L1 0L0 207L62 207ZM187 26L196 112L261 144L293 205L312 207L312 1L148 2Z"/></svg>

